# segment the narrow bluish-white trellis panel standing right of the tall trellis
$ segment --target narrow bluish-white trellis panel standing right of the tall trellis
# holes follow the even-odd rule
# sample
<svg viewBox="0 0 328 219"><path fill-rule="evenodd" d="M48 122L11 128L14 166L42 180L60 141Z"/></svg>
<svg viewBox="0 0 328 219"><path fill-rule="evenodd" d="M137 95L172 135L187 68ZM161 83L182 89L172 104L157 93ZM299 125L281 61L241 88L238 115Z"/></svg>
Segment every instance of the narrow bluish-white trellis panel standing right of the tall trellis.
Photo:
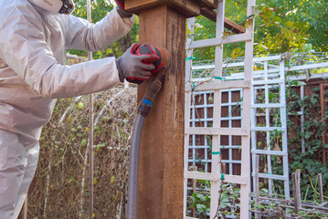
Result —
<svg viewBox="0 0 328 219"><path fill-rule="evenodd" d="M276 61L278 62L280 58L276 57ZM284 71L284 61L280 60L279 64L279 74L274 76L270 75L269 69L269 61L273 61L274 59L269 58L266 60L265 57L262 57L263 61L263 74L259 78L260 80L253 80L252 82L252 99L251 99L251 144L252 144L252 176L253 176L253 189L255 191L256 185L259 182L255 180L255 166L256 166L256 156L257 155L265 155L267 158L267 172L259 173L259 178L268 179L269 183L269 193L273 193L273 181L283 181L284 183L284 195L286 198L290 197L290 186L289 186L289 165L288 165L288 142L287 142L287 116L286 116L286 96L285 96L285 71ZM275 68L276 70L276 68ZM270 78L271 77L271 78ZM270 103L269 101L269 93L270 89L273 86L277 86L280 89L280 97L279 103ZM264 90L264 103L256 102L257 99L257 91ZM259 115L257 112L258 109L265 110L265 127L262 125L258 126L257 124L257 117L263 116ZM277 109L280 111L280 127L275 127L270 125L270 110ZM281 131L281 151L272 150L270 147L271 136L270 134L272 131ZM257 140L257 132L262 131L266 133L266 142L267 146L266 149L258 149L258 140ZM282 169L283 174L278 175L272 172L272 163L271 163L271 156L281 156L282 157Z"/></svg>

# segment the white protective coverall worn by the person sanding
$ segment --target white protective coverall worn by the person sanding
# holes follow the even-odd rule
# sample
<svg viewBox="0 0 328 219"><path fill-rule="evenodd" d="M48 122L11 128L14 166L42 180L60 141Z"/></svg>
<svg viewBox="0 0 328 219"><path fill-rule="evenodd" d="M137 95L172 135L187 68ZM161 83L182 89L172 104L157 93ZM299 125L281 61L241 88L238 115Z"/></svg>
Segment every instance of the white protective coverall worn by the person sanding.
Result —
<svg viewBox="0 0 328 219"><path fill-rule="evenodd" d="M111 89L115 58L66 66L66 49L96 51L130 31L112 10L92 25L27 0L0 1L0 219L16 218L36 172L38 140L58 98Z"/></svg>

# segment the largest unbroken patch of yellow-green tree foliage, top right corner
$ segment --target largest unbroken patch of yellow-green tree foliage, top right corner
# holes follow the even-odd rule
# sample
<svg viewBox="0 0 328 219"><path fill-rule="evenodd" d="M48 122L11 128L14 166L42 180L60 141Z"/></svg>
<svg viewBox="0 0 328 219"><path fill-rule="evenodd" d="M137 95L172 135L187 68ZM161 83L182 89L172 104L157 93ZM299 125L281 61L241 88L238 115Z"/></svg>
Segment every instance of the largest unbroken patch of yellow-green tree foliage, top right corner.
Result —
<svg viewBox="0 0 328 219"><path fill-rule="evenodd" d="M261 0L254 10L256 53L283 53L312 44L317 51L328 49L326 1Z"/></svg>

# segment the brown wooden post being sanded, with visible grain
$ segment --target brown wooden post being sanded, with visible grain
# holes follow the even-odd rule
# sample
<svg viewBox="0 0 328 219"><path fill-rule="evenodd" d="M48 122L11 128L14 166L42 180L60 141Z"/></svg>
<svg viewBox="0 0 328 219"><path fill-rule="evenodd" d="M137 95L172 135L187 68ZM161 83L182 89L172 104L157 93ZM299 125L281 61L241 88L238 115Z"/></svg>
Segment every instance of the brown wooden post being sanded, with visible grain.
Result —
<svg viewBox="0 0 328 219"><path fill-rule="evenodd" d="M139 42L171 51L171 68L144 126L140 151L138 218L183 218L185 15L168 5L139 15ZM138 88L143 99L147 82Z"/></svg>

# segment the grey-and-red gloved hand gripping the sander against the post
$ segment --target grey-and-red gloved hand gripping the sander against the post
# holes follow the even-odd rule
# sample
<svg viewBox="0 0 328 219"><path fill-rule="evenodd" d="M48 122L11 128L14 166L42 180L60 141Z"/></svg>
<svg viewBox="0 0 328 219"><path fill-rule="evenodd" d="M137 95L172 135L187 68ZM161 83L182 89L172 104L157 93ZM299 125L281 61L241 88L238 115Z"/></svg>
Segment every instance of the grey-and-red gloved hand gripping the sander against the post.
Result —
<svg viewBox="0 0 328 219"><path fill-rule="evenodd" d="M134 54L135 50L140 47L141 44L133 44L132 47L128 48L122 57L116 58L116 66L119 70L120 80L123 82L124 78L127 81L134 84L141 84L144 80L152 77L150 72L155 67L153 63L160 57L154 54L147 54L138 56Z"/></svg>

